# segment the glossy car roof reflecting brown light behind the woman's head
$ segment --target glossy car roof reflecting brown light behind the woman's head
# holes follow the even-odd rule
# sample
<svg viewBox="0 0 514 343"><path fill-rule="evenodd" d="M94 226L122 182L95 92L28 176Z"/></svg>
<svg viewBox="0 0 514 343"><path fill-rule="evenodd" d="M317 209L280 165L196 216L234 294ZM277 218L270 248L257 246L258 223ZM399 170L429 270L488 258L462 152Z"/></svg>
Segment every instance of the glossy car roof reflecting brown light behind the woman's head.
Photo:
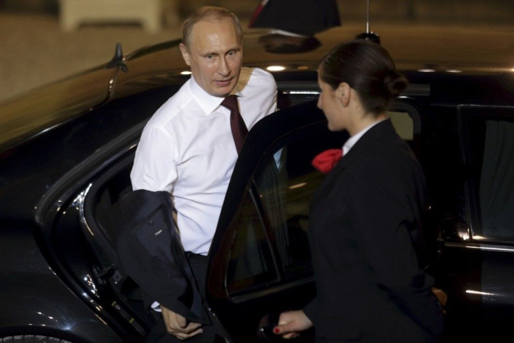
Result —
<svg viewBox="0 0 514 343"><path fill-rule="evenodd" d="M245 36L244 61L264 66L289 61L291 64L321 59L337 44L350 41L365 31L362 25L342 25L317 34L319 48L302 54L270 54L258 43L267 30ZM460 70L474 73L514 71L514 30L501 27L455 27L422 24L376 24L381 38L400 70ZM310 65L309 65L310 66Z"/></svg>

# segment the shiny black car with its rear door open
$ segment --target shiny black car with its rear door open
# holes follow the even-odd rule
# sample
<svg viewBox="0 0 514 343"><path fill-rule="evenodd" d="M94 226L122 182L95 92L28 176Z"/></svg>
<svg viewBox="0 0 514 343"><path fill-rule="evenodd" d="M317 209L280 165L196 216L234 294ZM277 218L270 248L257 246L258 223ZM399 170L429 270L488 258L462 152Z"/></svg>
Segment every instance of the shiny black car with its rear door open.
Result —
<svg viewBox="0 0 514 343"><path fill-rule="evenodd" d="M266 52L264 34L247 32L244 64L272 71L280 110L244 143L209 254L207 302L228 342L265 342L276 314L314 295L308 208L325 175L311 159L347 138L316 107L316 67L358 32L330 29L297 54ZM470 41L440 34L455 45L381 31L411 82L390 116L427 175L445 339L492 342L514 317L514 59L507 46L477 61ZM118 53L0 104L1 342L140 342L154 325L103 223L130 187L147 119L189 78L178 43Z"/></svg>

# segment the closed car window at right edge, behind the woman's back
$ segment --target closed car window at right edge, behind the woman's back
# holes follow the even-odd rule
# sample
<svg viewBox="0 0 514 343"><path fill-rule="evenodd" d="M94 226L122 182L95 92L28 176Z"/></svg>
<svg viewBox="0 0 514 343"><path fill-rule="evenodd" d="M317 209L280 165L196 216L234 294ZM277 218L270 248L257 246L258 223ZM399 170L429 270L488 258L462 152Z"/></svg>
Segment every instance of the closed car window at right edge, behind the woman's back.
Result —
<svg viewBox="0 0 514 343"><path fill-rule="evenodd" d="M463 139L472 237L514 242L514 119L473 111L464 119Z"/></svg>

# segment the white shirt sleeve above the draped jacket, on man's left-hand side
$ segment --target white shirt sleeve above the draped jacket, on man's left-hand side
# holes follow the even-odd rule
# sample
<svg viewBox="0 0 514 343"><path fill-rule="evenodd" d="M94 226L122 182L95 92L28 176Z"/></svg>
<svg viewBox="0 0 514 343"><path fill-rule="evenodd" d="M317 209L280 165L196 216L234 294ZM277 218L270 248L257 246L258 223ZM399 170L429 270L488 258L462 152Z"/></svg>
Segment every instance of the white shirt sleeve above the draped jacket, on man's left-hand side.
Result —
<svg viewBox="0 0 514 343"><path fill-rule="evenodd" d="M168 191L177 180L177 166L172 136L156 126L147 126L135 151L131 171L133 190Z"/></svg>

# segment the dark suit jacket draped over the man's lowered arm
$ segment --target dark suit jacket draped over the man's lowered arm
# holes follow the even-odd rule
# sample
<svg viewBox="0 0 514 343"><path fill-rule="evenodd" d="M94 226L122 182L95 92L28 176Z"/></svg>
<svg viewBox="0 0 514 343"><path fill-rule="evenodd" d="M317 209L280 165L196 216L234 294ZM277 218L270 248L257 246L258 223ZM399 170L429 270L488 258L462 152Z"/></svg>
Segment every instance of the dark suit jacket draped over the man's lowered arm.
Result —
<svg viewBox="0 0 514 343"><path fill-rule="evenodd" d="M108 225L120 269L164 307L195 323L203 318L202 300L166 191L131 191L110 209Z"/></svg>

